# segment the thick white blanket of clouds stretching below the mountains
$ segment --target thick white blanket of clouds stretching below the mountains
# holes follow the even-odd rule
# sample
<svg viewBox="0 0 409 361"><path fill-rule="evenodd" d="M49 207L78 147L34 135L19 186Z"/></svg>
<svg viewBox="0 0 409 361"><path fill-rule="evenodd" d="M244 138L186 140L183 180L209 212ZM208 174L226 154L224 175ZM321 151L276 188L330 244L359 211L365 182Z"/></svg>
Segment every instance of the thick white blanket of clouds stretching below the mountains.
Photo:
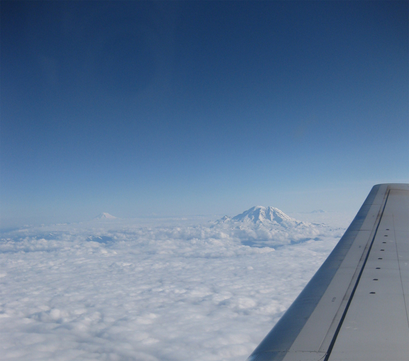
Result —
<svg viewBox="0 0 409 361"><path fill-rule="evenodd" d="M343 232L181 220L10 232L1 358L243 360Z"/></svg>

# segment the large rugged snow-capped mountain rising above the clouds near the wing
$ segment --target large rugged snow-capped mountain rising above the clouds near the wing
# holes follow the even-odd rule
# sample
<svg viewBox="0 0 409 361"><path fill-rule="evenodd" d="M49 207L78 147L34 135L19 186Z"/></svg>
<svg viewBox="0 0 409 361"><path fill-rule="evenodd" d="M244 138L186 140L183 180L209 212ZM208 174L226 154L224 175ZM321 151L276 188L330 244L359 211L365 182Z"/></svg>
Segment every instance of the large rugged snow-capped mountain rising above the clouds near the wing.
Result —
<svg viewBox="0 0 409 361"><path fill-rule="evenodd" d="M225 222L245 222L256 223L267 226L280 225L284 228L297 227L298 225L307 225L306 222L287 216L284 212L274 207L255 206L235 217L224 216L218 220L220 223Z"/></svg>

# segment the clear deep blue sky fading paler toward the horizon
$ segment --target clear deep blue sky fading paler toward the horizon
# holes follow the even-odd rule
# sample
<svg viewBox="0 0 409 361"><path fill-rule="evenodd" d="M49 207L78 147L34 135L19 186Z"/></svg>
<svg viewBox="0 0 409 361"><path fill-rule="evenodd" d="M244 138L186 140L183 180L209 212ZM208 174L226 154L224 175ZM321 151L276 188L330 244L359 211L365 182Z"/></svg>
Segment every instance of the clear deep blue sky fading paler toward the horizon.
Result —
<svg viewBox="0 0 409 361"><path fill-rule="evenodd" d="M409 182L408 2L8 2L1 223L357 211Z"/></svg>

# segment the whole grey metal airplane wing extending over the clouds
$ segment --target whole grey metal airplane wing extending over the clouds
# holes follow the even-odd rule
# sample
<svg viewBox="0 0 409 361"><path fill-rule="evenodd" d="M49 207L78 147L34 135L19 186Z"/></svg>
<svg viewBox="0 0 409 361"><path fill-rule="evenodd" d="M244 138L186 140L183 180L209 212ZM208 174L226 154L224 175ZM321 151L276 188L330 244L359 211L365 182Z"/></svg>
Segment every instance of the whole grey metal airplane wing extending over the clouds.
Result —
<svg viewBox="0 0 409 361"><path fill-rule="evenodd" d="M372 188L247 361L409 360L409 184Z"/></svg>

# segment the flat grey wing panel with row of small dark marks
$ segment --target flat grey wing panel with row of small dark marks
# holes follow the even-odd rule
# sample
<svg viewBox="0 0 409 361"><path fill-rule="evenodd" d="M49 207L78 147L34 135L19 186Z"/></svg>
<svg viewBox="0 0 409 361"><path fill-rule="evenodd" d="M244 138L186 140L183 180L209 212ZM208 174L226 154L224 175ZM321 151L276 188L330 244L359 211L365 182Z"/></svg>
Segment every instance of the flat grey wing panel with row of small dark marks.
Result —
<svg viewBox="0 0 409 361"><path fill-rule="evenodd" d="M405 306L408 221L409 192L391 187L371 252L329 360L409 359Z"/></svg>

